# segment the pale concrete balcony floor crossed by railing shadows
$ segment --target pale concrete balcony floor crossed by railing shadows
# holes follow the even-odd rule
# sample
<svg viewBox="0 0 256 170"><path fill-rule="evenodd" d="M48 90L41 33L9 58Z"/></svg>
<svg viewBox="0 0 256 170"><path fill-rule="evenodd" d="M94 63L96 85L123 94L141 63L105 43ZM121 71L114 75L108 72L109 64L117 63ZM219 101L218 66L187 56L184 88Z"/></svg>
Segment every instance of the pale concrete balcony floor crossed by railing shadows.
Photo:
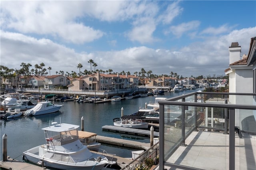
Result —
<svg viewBox="0 0 256 170"><path fill-rule="evenodd" d="M235 169L256 169L256 135L235 134ZM229 136L222 132L194 131L166 161L207 170L229 169ZM175 169L165 166L164 168Z"/></svg>

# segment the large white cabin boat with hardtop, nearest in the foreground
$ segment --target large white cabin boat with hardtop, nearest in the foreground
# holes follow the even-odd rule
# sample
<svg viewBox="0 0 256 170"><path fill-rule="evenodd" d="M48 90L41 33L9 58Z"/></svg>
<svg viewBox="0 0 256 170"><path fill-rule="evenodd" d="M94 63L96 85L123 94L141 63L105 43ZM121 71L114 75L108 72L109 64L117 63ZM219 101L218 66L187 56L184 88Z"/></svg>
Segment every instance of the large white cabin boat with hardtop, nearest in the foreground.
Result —
<svg viewBox="0 0 256 170"><path fill-rule="evenodd" d="M45 144L23 152L23 159L41 166L65 170L101 170L116 164L103 154L90 152L78 139L78 125L56 122L44 130Z"/></svg>

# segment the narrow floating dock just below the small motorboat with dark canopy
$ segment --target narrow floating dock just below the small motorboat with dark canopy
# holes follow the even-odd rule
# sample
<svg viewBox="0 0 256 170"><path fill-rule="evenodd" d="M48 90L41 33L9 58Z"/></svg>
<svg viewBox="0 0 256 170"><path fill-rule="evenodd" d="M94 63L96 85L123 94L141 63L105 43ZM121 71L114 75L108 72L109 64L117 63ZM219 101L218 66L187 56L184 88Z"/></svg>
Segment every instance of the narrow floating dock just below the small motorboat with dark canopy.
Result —
<svg viewBox="0 0 256 170"><path fill-rule="evenodd" d="M150 137L150 130L124 128L124 127L116 127L116 126L109 126L109 125L103 126L102 130L110 131L110 132L118 132L122 134L131 134L136 136ZM154 137L159 137L159 132L154 132Z"/></svg>

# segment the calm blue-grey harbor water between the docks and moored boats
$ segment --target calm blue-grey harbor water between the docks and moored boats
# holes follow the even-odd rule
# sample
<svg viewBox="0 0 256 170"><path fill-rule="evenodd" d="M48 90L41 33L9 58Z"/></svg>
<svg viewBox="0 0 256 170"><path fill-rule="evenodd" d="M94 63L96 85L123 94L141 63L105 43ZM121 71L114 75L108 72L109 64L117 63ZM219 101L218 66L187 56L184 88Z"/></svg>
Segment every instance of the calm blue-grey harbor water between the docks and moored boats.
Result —
<svg viewBox="0 0 256 170"><path fill-rule="evenodd" d="M181 92L165 92L158 97L174 97L184 93L190 93L195 90ZM7 155L16 160L22 161L22 153L29 148L39 146L45 143L44 132L42 128L50 125L50 122L69 123L81 126L81 118L84 118L84 131L94 132L101 136L113 138L122 138L126 140L135 140L139 142L150 143L150 138L141 136L132 136L114 132L103 131L102 126L113 125L113 119L121 116L121 109L124 109L124 115L136 113L139 108L145 107L145 103L154 102L155 96L140 97L137 99L122 100L118 102L106 103L76 103L68 101L56 113L38 115L32 117L20 117L14 120L1 120L1 136L7 135ZM79 128L81 130L81 128ZM1 160L2 160L2 138L1 138ZM124 158L131 158L132 151L126 148L116 146L102 145L101 149L106 150L109 154L116 154Z"/></svg>

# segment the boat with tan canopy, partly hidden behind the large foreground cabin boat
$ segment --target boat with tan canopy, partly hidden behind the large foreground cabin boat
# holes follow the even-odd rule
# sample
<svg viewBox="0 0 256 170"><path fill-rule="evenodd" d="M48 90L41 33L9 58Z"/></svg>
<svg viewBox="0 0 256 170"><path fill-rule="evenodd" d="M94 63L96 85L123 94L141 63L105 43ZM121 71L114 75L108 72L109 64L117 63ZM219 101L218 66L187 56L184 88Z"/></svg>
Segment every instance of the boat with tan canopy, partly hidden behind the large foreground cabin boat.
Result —
<svg viewBox="0 0 256 170"><path fill-rule="evenodd" d="M86 145L88 149L98 152L101 143L97 142L96 136L96 133L78 130L78 137L80 142Z"/></svg>

